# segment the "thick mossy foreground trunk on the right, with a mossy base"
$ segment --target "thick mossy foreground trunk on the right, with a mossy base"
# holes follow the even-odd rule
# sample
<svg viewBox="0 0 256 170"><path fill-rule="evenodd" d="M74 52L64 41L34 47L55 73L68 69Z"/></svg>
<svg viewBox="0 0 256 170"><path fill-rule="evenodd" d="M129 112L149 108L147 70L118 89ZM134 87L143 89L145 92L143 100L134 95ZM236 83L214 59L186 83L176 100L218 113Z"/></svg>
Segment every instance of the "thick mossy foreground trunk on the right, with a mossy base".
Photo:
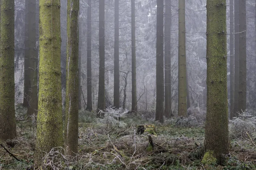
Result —
<svg viewBox="0 0 256 170"><path fill-rule="evenodd" d="M204 163L222 164L229 151L226 0L207 0L207 117ZM213 157L214 159L208 160Z"/></svg>

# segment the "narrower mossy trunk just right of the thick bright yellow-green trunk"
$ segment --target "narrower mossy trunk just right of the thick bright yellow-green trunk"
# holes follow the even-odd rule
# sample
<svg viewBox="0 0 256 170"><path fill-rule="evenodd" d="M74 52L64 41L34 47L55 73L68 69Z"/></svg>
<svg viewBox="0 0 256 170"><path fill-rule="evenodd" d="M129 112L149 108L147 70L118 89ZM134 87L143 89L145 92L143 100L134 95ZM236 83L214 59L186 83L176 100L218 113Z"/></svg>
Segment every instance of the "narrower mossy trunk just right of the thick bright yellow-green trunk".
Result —
<svg viewBox="0 0 256 170"><path fill-rule="evenodd" d="M79 0L67 1L67 71L65 147L67 155L75 156L78 148L78 60Z"/></svg>

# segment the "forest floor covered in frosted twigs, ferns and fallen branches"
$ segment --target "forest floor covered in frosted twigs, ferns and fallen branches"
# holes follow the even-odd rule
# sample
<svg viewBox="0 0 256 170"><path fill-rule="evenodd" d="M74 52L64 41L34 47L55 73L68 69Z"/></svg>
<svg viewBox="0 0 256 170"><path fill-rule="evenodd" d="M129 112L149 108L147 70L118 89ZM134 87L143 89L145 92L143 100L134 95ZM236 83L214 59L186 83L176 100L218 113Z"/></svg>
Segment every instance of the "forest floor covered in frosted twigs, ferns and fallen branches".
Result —
<svg viewBox="0 0 256 170"><path fill-rule="evenodd" d="M24 109L16 112L15 146L4 146L19 160L0 146L0 170L32 170L33 167L36 128L23 119ZM148 117L152 117L150 114L153 115L148 113ZM159 124L143 114L127 113L120 121L111 114L106 114L105 119L96 119L95 115L79 112L77 156L65 156L63 149L60 152L55 148L43 158L40 170L49 167L54 170L256 170L254 132L230 138L225 166L203 165L204 122L195 117L169 119ZM144 124L154 124L157 136L137 134L136 125ZM148 135L154 147L150 147Z"/></svg>

